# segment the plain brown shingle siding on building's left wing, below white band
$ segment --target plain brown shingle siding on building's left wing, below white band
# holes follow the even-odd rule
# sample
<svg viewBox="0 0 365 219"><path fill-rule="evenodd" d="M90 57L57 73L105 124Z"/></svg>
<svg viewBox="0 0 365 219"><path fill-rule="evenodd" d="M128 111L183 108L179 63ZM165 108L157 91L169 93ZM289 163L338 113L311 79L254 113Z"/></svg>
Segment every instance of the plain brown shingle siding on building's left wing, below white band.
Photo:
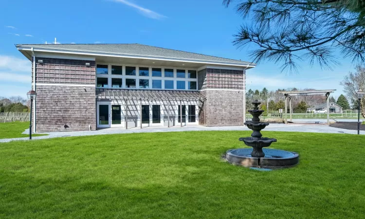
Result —
<svg viewBox="0 0 365 219"><path fill-rule="evenodd" d="M37 85L36 131L96 130L95 88L85 89Z"/></svg>

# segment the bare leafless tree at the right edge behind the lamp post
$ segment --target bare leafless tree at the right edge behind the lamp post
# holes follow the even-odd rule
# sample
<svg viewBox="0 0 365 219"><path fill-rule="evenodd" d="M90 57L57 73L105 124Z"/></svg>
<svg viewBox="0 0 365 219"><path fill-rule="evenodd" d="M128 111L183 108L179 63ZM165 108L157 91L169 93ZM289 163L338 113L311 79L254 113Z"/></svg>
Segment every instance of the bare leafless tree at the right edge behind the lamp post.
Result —
<svg viewBox="0 0 365 219"><path fill-rule="evenodd" d="M351 100L351 103L358 103L356 93L359 89L365 91L365 66L358 65L356 72L349 72L340 85L344 86L344 91ZM360 100L361 115L365 117L365 98ZM354 107L354 106L352 106ZM356 106L355 106L356 107Z"/></svg>

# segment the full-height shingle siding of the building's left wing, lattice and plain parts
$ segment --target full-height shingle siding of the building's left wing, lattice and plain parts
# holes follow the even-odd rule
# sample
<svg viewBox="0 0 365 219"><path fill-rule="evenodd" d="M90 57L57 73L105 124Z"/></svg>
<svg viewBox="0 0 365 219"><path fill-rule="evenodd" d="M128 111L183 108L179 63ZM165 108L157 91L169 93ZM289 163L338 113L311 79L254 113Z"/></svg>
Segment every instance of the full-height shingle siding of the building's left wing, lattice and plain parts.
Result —
<svg viewBox="0 0 365 219"><path fill-rule="evenodd" d="M96 130L95 87L90 85L95 85L95 61L37 57L36 132L89 130L89 125Z"/></svg>

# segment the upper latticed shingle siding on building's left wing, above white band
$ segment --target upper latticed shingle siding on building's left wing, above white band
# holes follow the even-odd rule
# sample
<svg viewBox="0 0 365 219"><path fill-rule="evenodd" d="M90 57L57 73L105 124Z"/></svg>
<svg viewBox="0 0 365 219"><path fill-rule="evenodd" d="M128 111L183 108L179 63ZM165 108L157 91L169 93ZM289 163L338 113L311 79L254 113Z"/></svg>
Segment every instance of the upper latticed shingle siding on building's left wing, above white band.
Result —
<svg viewBox="0 0 365 219"><path fill-rule="evenodd" d="M43 60L43 63L38 63ZM90 63L90 66L86 66ZM32 62L33 73L33 62ZM33 74L32 74L33 83ZM36 83L95 84L95 61L36 58Z"/></svg>

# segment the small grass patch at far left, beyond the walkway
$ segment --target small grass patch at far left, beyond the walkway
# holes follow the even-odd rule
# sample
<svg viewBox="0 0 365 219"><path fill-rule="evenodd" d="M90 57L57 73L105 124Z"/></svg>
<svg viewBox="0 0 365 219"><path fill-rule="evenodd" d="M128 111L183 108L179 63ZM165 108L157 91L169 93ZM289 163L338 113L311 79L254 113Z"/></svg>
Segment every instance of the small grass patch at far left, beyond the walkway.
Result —
<svg viewBox="0 0 365 219"><path fill-rule="evenodd" d="M0 123L0 139L29 137L29 134L22 134L22 132L27 128L29 128L29 122ZM47 134L32 134L32 136L42 135Z"/></svg>

